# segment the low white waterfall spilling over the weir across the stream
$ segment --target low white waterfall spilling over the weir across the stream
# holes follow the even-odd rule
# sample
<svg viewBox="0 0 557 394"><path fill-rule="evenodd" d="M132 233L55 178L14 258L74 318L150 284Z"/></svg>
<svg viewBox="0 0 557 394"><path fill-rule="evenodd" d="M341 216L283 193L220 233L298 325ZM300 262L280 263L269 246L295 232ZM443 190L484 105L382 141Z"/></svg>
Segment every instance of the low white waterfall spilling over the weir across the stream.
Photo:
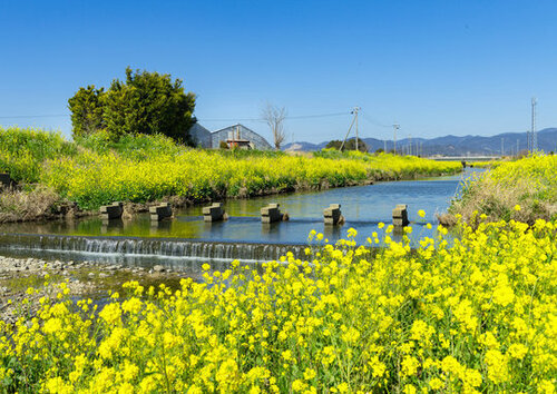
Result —
<svg viewBox="0 0 557 394"><path fill-rule="evenodd" d="M0 234L0 253L10 250L71 253L101 256L173 257L266 262L287 252L304 256L304 245L205 242L169 238L87 237L40 234Z"/></svg>

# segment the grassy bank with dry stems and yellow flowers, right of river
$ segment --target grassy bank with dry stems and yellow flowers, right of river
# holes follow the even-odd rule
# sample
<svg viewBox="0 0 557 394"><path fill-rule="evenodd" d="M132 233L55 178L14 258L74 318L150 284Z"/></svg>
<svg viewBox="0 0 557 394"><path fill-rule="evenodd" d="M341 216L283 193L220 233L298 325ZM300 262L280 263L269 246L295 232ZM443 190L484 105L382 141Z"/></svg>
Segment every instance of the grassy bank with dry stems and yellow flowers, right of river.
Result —
<svg viewBox="0 0 557 394"><path fill-rule="evenodd" d="M557 156L500 162L472 179L451 203L449 214L468 221L516 219L534 224L557 215Z"/></svg>

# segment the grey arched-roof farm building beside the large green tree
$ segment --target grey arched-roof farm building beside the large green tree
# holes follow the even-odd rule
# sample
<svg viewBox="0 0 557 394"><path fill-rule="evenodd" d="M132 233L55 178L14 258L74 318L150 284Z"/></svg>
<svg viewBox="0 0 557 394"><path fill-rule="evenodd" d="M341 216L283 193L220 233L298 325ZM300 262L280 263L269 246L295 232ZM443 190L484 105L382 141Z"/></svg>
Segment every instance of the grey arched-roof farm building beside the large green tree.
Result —
<svg viewBox="0 0 557 394"><path fill-rule="evenodd" d="M234 125L216 131L208 131L205 127L195 124L189 134L197 146L202 148L218 149L221 141L226 142L228 147L238 147L246 149L268 150L273 149L271 144L257 132L248 129L244 125Z"/></svg>

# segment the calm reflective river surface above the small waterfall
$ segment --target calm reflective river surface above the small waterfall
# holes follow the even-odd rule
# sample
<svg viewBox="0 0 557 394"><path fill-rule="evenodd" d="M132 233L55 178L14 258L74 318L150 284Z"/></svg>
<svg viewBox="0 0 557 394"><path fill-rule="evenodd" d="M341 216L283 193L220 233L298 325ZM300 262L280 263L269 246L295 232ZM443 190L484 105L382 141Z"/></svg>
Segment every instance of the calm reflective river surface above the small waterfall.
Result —
<svg viewBox="0 0 557 394"><path fill-rule="evenodd" d="M363 244L373 232L381 233L378 228L380 221L391 223L392 208L397 204L408 204L409 219L414 226L411 236L417 239L420 236L432 235L433 230L424 227L426 220L434 223L434 215L447 209L462 178L475 173L478 173L478 169L468 169L465 175L444 178L227 200L224 203L224 209L229 215L226 221L205 223L202 207L195 206L177 210L173 220L152 221L148 214L138 214L130 219L106 223L94 217L45 224L7 224L0 226L0 233L303 244L312 229L324 233L325 238L334 242L344 237L350 227L354 227L359 232L356 240ZM262 224L260 209L270 203L278 203L281 210L287 211L291 219ZM323 224L323 209L330 204L342 205L342 215L346 220L344 225ZM419 209L426 210L426 220L418 217Z"/></svg>

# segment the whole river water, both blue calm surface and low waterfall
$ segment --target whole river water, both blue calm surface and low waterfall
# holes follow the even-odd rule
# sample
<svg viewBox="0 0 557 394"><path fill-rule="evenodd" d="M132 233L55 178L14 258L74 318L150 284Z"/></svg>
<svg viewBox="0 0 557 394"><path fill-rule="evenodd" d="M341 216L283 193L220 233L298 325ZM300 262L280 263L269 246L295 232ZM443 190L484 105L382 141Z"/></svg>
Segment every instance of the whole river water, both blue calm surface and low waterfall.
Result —
<svg viewBox="0 0 557 394"><path fill-rule="evenodd" d="M224 207L229 219L214 224L204 223L202 207L196 206L176 210L175 219L160 223L152 223L147 214L138 214L131 219L111 220L108 224L98 218L86 218L2 225L0 234L4 234L4 239L2 242L0 235L0 253L21 256L40 254L51 258L104 258L138 265L145 265L144 260L156 259L164 259L168 264L176 259L194 263L197 259L272 259L284 254L284 246L291 245L292 248L293 245L306 244L312 229L323 233L329 242L335 242L345 237L346 230L353 227L358 229L356 240L363 244L373 232L381 234L379 223L391 223L392 209L397 204L408 205L413 227L411 237L418 239L433 234L434 226L429 230L426 223L434 225L436 214L447 210L462 179L478 171L468 169L465 174L451 177L227 200ZM281 210L289 214L290 220L262 224L260 209L268 203L278 203ZM323 224L323 209L330 204L341 204L344 225ZM426 211L423 219L418 216L419 209ZM13 234L33 236L19 236L16 239ZM300 247L295 249L301 250ZM176 264L182 263L173 263Z"/></svg>

